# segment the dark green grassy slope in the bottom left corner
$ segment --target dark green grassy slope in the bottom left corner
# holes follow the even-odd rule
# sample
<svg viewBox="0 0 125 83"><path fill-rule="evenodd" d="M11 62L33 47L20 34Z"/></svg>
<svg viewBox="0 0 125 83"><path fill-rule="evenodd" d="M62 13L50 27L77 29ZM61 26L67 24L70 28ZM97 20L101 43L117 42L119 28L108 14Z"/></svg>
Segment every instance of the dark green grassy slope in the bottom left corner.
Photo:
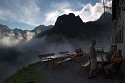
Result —
<svg viewBox="0 0 125 83"><path fill-rule="evenodd" d="M4 80L3 83L30 83L30 81L33 81L33 83L45 83L44 77L36 71L37 64L31 64L17 71L14 75Z"/></svg>

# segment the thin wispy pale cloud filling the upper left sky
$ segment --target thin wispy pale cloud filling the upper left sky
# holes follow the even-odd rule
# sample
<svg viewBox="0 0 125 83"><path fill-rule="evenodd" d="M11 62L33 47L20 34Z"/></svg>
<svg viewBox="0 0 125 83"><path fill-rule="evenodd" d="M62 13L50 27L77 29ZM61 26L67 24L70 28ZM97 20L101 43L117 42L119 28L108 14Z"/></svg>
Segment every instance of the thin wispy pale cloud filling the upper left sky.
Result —
<svg viewBox="0 0 125 83"><path fill-rule="evenodd" d="M0 6L0 19L34 26L40 24L42 18L37 0L5 0L3 3L6 7Z"/></svg>

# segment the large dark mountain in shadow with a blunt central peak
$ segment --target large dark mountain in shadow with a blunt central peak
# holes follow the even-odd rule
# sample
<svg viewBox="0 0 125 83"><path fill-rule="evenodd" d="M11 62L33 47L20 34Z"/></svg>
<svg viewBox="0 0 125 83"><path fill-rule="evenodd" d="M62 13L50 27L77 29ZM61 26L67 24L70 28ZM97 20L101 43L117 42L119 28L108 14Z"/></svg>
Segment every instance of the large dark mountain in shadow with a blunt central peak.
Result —
<svg viewBox="0 0 125 83"><path fill-rule="evenodd" d="M105 13L105 17L102 14L98 20L84 23L79 16L75 16L73 13L64 14L57 18L53 28L41 32L36 37L41 38L46 35L52 39L54 35L58 35L72 39L85 40L97 38L110 41L111 35L114 33L114 24L111 21L111 17L110 13Z"/></svg>

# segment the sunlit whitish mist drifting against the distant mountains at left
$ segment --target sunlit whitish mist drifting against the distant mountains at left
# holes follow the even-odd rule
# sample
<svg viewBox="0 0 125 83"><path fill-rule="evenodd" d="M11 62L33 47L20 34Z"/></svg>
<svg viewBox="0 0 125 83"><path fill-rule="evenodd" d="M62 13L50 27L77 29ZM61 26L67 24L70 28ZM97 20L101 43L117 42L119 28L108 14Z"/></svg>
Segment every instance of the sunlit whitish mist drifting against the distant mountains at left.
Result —
<svg viewBox="0 0 125 83"><path fill-rule="evenodd" d="M6 47L13 47L16 46L19 43L25 43L30 41L36 34L34 32L26 31L25 33L21 34L17 32L16 34L14 32L5 32L0 34L0 46L6 46Z"/></svg>

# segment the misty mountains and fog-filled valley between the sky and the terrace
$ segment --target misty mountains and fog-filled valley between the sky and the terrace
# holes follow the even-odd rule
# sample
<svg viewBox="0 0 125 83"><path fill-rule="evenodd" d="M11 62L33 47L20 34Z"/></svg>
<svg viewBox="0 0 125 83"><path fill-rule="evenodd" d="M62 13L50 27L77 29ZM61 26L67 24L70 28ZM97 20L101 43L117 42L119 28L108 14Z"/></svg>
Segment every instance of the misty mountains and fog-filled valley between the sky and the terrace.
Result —
<svg viewBox="0 0 125 83"><path fill-rule="evenodd" d="M82 48L89 50L92 39L97 47L109 49L114 32L112 15L105 13L93 22L82 22L73 13L59 16L52 26L37 26L34 30L11 30L0 25L0 80L15 73L17 69L39 61L38 54L74 51Z"/></svg>

